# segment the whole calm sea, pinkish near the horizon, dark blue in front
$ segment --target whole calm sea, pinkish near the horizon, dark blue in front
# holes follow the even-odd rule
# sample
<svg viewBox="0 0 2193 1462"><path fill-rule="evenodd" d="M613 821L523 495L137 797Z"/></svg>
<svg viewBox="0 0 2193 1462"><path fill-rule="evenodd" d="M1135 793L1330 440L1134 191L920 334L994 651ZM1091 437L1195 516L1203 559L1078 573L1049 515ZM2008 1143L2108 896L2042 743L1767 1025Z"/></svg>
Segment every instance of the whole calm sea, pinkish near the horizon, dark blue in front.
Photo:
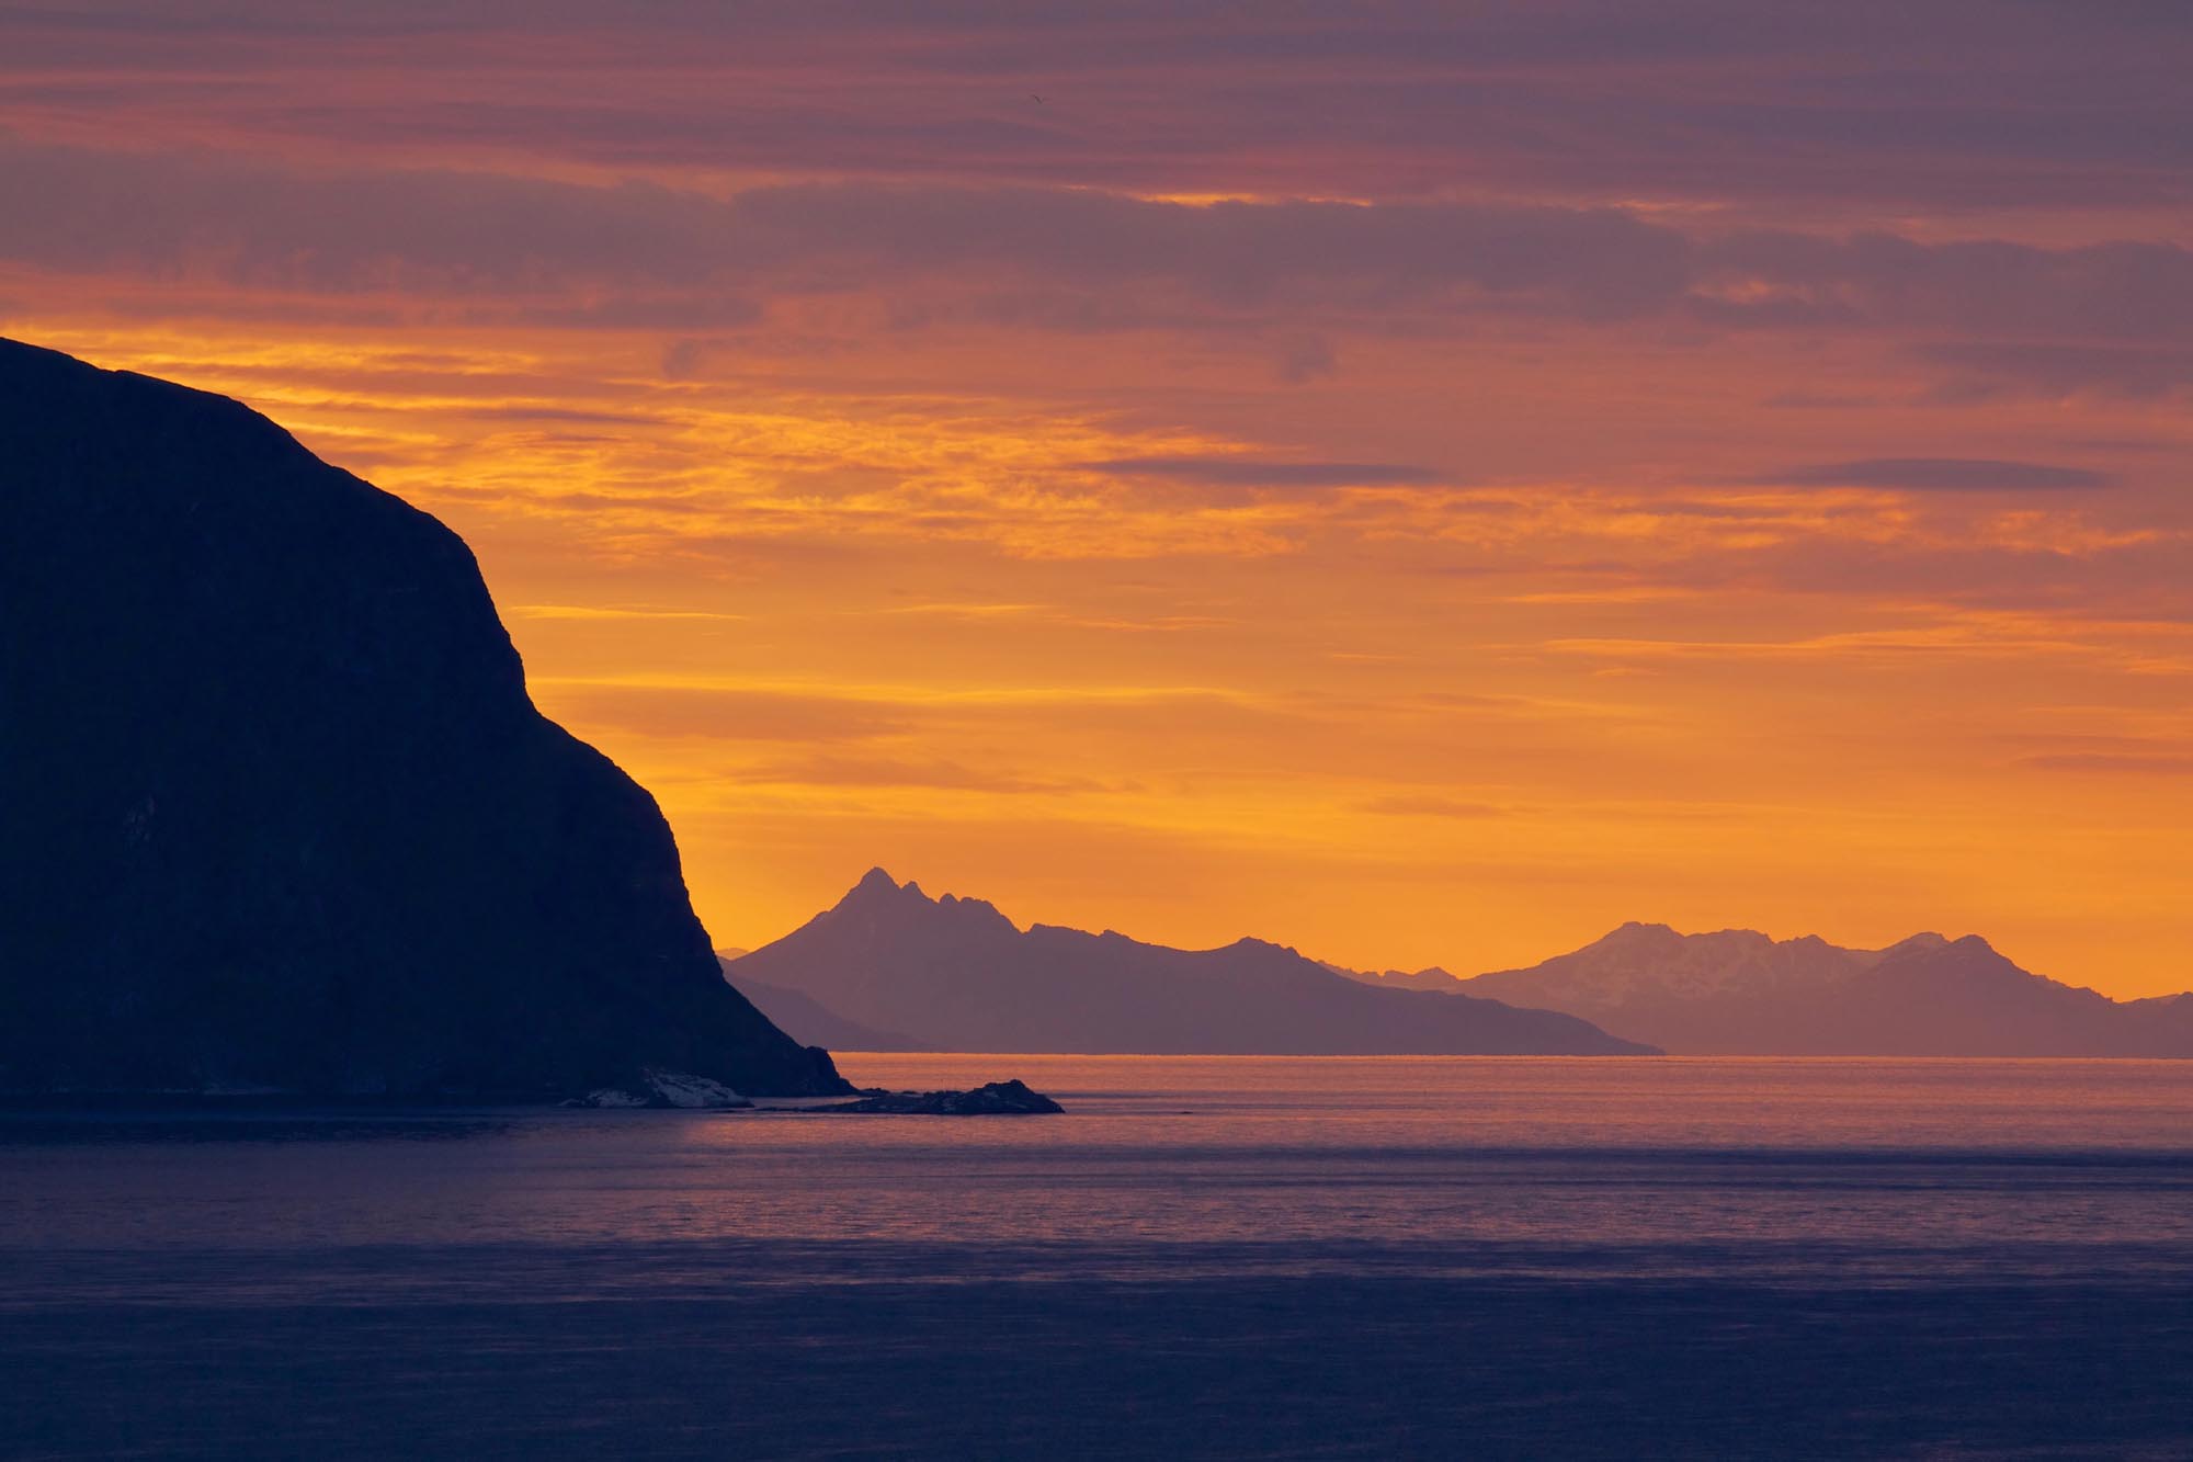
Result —
<svg viewBox="0 0 2193 1462"><path fill-rule="evenodd" d="M0 1117L0 1451L2193 1458L2193 1062L842 1065Z"/></svg>

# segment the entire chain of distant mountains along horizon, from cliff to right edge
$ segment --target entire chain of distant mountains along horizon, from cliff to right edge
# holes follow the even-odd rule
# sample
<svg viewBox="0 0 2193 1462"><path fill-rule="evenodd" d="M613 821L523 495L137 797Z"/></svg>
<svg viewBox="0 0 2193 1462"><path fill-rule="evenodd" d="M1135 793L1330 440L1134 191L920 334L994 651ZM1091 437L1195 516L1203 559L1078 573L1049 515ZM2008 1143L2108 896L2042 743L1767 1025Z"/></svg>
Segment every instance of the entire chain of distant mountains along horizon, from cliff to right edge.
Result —
<svg viewBox="0 0 2193 1462"><path fill-rule="evenodd" d="M871 869L796 933L721 961L776 1025L836 1049L2193 1058L2193 994L2112 1001L1978 935L1866 951L1623 924L1526 970L1373 975L1261 940L1022 931Z"/></svg>

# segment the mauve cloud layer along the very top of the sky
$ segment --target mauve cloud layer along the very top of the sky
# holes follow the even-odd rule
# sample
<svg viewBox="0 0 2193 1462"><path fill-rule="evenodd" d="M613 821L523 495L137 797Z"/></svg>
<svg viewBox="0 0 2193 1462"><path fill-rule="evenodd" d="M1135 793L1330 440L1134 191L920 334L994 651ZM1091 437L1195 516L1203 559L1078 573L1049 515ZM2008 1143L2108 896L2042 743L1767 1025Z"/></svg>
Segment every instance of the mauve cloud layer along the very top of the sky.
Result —
<svg viewBox="0 0 2193 1462"><path fill-rule="evenodd" d="M2173 0L1480 0L1254 24L1217 0L72 4L0 15L0 57L18 116L143 136L186 114L246 147L1386 200L2193 198ZM590 83L544 83L575 72Z"/></svg>

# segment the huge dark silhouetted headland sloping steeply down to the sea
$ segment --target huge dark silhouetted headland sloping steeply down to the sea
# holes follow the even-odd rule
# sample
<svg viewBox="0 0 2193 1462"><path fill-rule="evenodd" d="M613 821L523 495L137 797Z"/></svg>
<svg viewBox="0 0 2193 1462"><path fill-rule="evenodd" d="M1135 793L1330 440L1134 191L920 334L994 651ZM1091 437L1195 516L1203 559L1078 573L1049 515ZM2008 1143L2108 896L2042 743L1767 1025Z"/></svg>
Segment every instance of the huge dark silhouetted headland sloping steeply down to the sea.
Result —
<svg viewBox="0 0 2193 1462"><path fill-rule="evenodd" d="M441 522L237 402L0 342L0 1089L844 1091Z"/></svg>

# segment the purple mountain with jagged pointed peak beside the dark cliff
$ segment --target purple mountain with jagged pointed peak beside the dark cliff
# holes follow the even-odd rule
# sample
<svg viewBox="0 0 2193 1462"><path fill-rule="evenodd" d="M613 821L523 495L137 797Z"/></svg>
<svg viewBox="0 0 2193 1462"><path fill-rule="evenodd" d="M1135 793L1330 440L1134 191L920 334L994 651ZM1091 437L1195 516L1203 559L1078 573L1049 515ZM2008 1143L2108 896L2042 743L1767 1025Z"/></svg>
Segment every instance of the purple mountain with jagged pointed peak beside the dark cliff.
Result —
<svg viewBox="0 0 2193 1462"><path fill-rule="evenodd" d="M884 869L798 931L726 961L726 977L798 1041L840 1049L864 1045L844 1034L851 1023L877 1043L868 1049L1651 1054L1568 1014L1379 990L1261 940L1180 951L1110 931L1022 931L978 898L930 898Z"/></svg>

